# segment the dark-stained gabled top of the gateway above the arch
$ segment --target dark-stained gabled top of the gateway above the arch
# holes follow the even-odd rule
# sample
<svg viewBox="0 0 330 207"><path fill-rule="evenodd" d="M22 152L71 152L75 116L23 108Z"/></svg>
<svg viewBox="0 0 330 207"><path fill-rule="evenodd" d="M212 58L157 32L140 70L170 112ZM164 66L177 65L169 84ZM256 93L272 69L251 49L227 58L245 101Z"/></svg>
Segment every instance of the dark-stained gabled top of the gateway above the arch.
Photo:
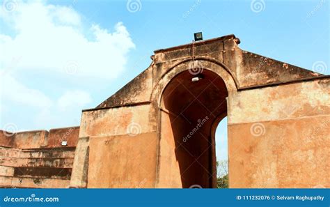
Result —
<svg viewBox="0 0 330 207"><path fill-rule="evenodd" d="M194 44L158 49L146 70L117 93L104 100L97 108L150 100L152 90L167 72L184 61L189 61L189 68L192 68L193 56L196 60L223 66L223 69L235 79L237 89L321 76L317 72L244 51L238 45L238 38L229 35ZM203 65L197 63L196 67L201 69Z"/></svg>

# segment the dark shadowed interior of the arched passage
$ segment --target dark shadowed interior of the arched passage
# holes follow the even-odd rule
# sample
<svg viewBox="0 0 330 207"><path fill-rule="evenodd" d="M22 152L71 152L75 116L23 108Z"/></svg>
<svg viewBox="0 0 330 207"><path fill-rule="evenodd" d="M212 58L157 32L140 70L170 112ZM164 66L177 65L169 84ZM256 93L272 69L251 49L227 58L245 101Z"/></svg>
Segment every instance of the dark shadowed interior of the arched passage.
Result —
<svg viewBox="0 0 330 207"><path fill-rule="evenodd" d="M215 131L227 115L228 91L215 72L191 73L185 70L169 82L161 107L171 121L168 133L174 139L182 187L217 187Z"/></svg>

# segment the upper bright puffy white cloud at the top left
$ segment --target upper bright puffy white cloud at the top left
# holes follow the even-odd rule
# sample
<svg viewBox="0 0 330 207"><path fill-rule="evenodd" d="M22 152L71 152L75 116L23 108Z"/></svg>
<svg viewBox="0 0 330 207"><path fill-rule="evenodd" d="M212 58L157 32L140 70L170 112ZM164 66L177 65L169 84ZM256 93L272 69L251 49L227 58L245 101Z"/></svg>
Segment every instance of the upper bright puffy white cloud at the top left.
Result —
<svg viewBox="0 0 330 207"><path fill-rule="evenodd" d="M111 33L99 25L91 25L86 33L81 15L70 7L45 5L42 2L19 3L17 10L0 17L15 29L15 36L0 34L0 62L10 67L13 57L22 59L19 71L47 70L68 72L77 66L74 75L111 79L123 72L127 52L134 43L122 22ZM69 72L70 73L70 72Z"/></svg>

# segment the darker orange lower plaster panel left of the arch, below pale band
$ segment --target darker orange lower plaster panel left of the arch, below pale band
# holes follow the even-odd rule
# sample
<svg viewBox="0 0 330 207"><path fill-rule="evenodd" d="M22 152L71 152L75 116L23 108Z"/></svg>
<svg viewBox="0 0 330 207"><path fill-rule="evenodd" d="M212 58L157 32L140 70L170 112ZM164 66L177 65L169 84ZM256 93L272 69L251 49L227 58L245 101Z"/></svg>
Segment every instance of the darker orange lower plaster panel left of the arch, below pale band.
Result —
<svg viewBox="0 0 330 207"><path fill-rule="evenodd" d="M90 137L87 187L155 187L158 133Z"/></svg>

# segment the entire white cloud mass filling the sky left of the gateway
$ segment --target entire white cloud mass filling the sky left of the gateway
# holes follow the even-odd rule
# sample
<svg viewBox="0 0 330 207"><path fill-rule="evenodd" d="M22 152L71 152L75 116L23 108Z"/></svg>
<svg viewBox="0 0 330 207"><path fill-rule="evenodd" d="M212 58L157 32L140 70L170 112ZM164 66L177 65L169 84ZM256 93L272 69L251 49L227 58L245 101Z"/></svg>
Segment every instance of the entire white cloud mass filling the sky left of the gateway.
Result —
<svg viewBox="0 0 330 207"><path fill-rule="evenodd" d="M79 124L93 89L88 91L90 82L84 90L73 83L118 77L135 47L122 22L113 29L88 25L70 6L45 1L17 1L11 12L0 9L0 26L0 123L29 130ZM11 116L17 110L21 117Z"/></svg>

